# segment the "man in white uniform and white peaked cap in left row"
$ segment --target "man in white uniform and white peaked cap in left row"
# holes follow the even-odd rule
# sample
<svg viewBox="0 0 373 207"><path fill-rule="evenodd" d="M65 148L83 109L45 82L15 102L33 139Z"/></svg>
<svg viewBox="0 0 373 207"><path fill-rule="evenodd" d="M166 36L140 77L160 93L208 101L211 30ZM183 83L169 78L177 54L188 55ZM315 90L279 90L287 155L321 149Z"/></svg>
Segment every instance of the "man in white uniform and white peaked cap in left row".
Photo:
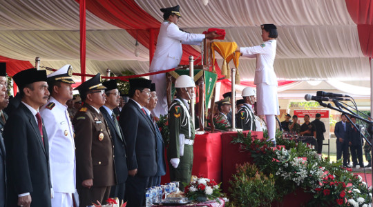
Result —
<svg viewBox="0 0 373 207"><path fill-rule="evenodd" d="M73 206L76 188L74 132L66 105L73 99L72 74L66 65L47 76L50 98L40 108L49 142L52 207Z"/></svg>

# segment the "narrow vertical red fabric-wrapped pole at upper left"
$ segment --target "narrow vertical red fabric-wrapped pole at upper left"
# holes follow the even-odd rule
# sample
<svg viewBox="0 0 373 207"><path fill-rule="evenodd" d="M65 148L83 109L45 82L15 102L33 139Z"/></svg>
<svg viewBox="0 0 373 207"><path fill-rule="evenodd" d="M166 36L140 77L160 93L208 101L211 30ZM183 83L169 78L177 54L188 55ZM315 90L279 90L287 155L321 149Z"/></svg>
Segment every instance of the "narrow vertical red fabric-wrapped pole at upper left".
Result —
<svg viewBox="0 0 373 207"><path fill-rule="evenodd" d="M81 73L86 73L86 0L79 1L79 17L80 17L80 70ZM86 81L86 77L82 76L82 82Z"/></svg>

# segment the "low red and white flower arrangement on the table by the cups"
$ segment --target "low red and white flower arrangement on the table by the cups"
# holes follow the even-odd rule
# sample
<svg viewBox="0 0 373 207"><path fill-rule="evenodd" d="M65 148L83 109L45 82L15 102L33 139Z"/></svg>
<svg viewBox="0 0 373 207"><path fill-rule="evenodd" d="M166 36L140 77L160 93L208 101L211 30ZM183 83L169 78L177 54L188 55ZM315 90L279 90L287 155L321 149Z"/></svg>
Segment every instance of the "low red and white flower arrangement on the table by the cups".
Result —
<svg viewBox="0 0 373 207"><path fill-rule="evenodd" d="M220 193L220 184L217 184L213 179L193 177L190 184L184 184L184 193L188 199L194 201L202 202L206 201L206 199L215 199L220 203L218 199L222 197L222 193Z"/></svg>

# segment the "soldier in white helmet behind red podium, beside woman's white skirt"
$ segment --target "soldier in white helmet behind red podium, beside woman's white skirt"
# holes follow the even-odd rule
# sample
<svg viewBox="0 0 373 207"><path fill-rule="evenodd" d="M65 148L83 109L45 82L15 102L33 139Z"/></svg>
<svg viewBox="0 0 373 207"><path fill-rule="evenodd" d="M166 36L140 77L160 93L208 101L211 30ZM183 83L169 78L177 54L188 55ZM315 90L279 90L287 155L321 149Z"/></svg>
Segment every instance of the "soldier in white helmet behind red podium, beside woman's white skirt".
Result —
<svg viewBox="0 0 373 207"><path fill-rule="evenodd" d="M255 94L256 92L254 88L246 87L244 90L242 90L242 97L245 103L236 114L237 128L242 128L242 130L256 131L253 109L253 105L255 103Z"/></svg>

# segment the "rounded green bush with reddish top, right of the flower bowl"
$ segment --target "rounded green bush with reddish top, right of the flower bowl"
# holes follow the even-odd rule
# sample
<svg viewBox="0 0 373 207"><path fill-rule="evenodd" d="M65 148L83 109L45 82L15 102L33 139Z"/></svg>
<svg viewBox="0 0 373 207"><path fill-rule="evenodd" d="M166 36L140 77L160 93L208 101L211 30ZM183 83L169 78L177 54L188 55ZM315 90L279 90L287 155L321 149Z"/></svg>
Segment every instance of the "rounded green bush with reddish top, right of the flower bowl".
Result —
<svg viewBox="0 0 373 207"><path fill-rule="evenodd" d="M271 206L276 196L274 176L267 177L255 165L242 164L231 181L231 201L234 206Z"/></svg>

